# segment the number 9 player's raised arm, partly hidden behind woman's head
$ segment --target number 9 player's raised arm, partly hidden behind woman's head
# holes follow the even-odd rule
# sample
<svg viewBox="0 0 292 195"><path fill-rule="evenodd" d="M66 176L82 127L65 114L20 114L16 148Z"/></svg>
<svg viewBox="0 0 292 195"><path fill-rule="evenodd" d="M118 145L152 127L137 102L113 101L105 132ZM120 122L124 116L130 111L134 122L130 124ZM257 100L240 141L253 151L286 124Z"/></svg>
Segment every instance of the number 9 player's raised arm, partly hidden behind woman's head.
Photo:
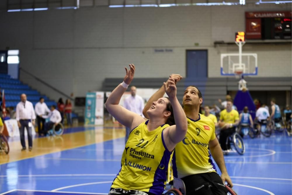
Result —
<svg viewBox="0 0 292 195"><path fill-rule="evenodd" d="M175 84L180 81L183 77L178 75L178 74L171 74L169 76L169 78L173 78L175 80ZM166 81L167 82L167 81ZM147 115L147 110L149 110L149 108L152 106L152 102L157 101L159 98L162 98L165 94L165 90L164 90L164 85L162 85L160 87L160 89L158 89L157 92L155 92L150 99L147 101L144 109L143 109L143 115L145 116L145 118L149 119L149 116Z"/></svg>

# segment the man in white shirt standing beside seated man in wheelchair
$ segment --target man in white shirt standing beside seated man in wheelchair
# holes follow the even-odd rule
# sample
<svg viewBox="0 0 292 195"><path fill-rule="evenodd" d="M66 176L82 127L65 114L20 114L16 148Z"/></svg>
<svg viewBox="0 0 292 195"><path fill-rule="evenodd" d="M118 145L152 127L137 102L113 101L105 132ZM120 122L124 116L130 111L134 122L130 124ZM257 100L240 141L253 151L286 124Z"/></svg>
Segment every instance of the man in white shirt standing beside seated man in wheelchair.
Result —
<svg viewBox="0 0 292 195"><path fill-rule="evenodd" d="M34 111L36 113L37 127L38 127L38 131L39 131L39 135L41 135L41 134L43 135L44 134L44 129L45 129L45 121L46 121L46 119L44 119L42 116L46 115L46 112L48 112L48 113L51 112L44 101L45 101L44 98L40 97L39 98L39 102L36 103L36 105L34 106ZM42 127L41 127L41 124L42 124Z"/></svg>

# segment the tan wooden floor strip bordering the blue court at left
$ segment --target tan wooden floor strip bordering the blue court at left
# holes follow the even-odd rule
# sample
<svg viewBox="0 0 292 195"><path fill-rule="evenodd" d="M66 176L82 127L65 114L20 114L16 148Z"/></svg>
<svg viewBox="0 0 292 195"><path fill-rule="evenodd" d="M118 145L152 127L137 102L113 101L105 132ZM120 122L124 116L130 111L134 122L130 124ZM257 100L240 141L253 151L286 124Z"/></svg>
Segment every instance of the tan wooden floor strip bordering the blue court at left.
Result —
<svg viewBox="0 0 292 195"><path fill-rule="evenodd" d="M87 146L103 141L109 141L125 136L125 130L121 128L103 128L90 131L63 134L62 136L41 137L33 140L33 150L21 151L20 141L9 142L10 152L6 155L0 154L0 165L15 161L33 158L49 153L60 152L68 149L74 149L81 146Z"/></svg>

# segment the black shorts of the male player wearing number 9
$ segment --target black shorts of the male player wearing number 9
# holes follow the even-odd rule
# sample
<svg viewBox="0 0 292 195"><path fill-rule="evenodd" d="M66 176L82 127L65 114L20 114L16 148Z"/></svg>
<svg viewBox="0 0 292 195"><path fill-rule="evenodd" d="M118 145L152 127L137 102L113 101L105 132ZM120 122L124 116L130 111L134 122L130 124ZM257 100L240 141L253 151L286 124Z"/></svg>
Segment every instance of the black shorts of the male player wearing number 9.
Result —
<svg viewBox="0 0 292 195"><path fill-rule="evenodd" d="M226 195L228 192L216 172L189 175L182 180L185 183L186 194L189 195Z"/></svg>

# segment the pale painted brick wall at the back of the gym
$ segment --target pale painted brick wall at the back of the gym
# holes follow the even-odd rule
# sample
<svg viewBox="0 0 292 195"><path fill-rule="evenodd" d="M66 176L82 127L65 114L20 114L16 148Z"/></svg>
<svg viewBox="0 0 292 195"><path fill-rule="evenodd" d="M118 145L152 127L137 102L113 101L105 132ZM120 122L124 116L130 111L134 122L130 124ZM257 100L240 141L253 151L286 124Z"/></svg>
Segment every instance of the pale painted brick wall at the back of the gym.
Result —
<svg viewBox="0 0 292 195"><path fill-rule="evenodd" d="M137 66L136 77L185 76L186 49L208 49L208 76L220 77L220 53L238 48L213 42L233 42L234 32L245 29L245 11L272 10L291 10L291 4L0 12L0 49L20 49L22 68L75 96L100 90L105 77L123 77L128 63ZM154 52L165 48L173 52ZM258 54L259 77L291 77L291 44L247 44L243 52ZM28 75L20 77L58 98Z"/></svg>

